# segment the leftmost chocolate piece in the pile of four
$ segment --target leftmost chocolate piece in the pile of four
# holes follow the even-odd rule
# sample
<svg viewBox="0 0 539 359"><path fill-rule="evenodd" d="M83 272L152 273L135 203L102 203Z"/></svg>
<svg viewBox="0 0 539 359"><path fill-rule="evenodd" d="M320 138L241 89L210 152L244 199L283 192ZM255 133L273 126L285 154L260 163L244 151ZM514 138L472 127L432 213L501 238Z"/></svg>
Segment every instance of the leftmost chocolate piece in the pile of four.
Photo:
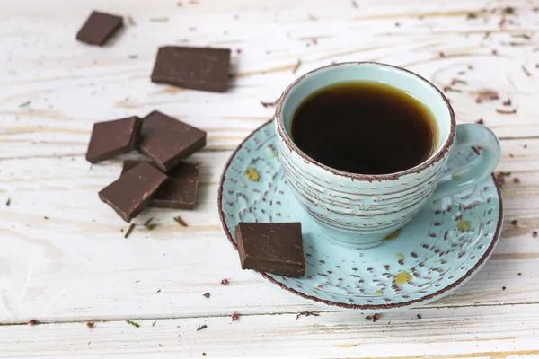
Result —
<svg viewBox="0 0 539 359"><path fill-rule="evenodd" d="M86 160L95 163L131 151L135 147L141 123L137 116L94 123Z"/></svg>

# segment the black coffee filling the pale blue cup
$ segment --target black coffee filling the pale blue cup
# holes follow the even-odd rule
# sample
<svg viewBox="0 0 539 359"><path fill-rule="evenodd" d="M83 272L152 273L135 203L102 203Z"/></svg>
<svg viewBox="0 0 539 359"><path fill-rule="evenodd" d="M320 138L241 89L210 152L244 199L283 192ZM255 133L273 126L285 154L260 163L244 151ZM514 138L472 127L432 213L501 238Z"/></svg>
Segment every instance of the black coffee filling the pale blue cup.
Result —
<svg viewBox="0 0 539 359"><path fill-rule="evenodd" d="M292 139L331 168L385 174L428 159L436 147L437 125L430 110L406 92L382 83L337 83L299 105Z"/></svg>

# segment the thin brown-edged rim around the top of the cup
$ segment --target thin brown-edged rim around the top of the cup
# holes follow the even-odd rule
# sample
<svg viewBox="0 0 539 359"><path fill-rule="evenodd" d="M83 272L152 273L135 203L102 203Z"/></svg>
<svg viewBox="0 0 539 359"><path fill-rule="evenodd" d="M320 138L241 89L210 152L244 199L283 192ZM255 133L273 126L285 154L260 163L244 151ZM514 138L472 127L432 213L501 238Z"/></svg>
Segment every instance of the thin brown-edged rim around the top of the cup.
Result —
<svg viewBox="0 0 539 359"><path fill-rule="evenodd" d="M419 81L423 83L427 83L432 90L437 92L443 101L446 102L447 110L449 112L449 117L451 120L450 128L449 128L449 136L447 136L446 142L442 145L442 147L435 153L434 155L431 155L429 159L427 159L424 162L421 162L420 164L412 167L411 169L407 169L404 171L398 171L393 173L385 173L385 174L360 174L360 173L353 173L353 172L347 172L347 171L341 171L334 168L331 168L330 166L327 166L323 164L322 162L315 161L314 158L311 158L307 154L305 154L299 147L296 146L296 144L292 141L292 138L288 136L287 131L285 130L283 126L283 120L282 120L282 109L283 109L283 103L285 99L287 98L288 93L296 87L298 83L301 83L305 77L307 77L310 74L314 74L318 71L321 71L323 69L329 68L329 67L335 67L335 66L344 66L344 65L376 65L376 66L385 66L385 67L391 67L393 69L396 69L398 71L402 71L407 74L411 74L412 76L416 77ZM281 94L280 98L277 102L277 108L275 110L275 119L277 123L277 133L278 136L284 141L284 143L287 145L287 147L297 153L305 162L308 162L310 164L314 164L317 167L322 168L325 171L329 171L332 174L342 176L342 177L348 177L352 180L367 180L369 182L372 182L374 180L398 180L404 175L411 174L411 173L419 173L420 171L425 170L429 166L435 164L436 162L440 161L444 156L446 156L446 153L451 149L452 144L455 142L455 128L456 128L456 119L455 119L455 112L453 111L453 108L451 107L451 104L446 98L446 95L444 95L443 92L441 92L433 83L430 83L429 80L426 78L420 76L419 74L415 74L411 72L410 70L407 70L405 68L399 67L399 66L393 66L388 64L383 64L379 62L373 62L373 61L353 61L353 62L341 62L338 64L331 64L327 66L318 67L312 71L309 71L308 73L302 74L299 76L293 83L290 83L288 85L287 89Z"/></svg>

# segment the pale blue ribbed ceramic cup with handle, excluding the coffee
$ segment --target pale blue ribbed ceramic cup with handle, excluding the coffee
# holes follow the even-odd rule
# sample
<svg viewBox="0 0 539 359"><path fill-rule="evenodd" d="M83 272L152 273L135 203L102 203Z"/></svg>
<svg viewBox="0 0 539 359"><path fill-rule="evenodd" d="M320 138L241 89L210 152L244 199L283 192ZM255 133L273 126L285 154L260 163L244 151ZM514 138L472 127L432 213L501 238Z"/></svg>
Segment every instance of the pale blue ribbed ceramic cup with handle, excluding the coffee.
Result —
<svg viewBox="0 0 539 359"><path fill-rule="evenodd" d="M385 83L425 104L438 128L437 147L429 159L406 171L363 175L332 169L303 153L290 135L298 105L322 87L349 81ZM429 200L474 186L499 162L499 142L489 128L456 126L449 101L432 83L384 64L343 63L304 74L279 99L275 125L279 162L301 206L329 239L362 248L375 246L408 223ZM482 147L481 155L446 173L451 153L471 146Z"/></svg>

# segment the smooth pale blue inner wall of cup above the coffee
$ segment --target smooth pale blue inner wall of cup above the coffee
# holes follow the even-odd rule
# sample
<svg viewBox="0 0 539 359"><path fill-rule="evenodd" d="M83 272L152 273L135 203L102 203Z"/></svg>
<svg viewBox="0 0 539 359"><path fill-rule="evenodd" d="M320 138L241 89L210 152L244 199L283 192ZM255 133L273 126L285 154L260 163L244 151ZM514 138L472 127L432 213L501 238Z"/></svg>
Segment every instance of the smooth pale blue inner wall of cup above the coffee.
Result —
<svg viewBox="0 0 539 359"><path fill-rule="evenodd" d="M305 74L284 92L277 109L277 118L291 143L294 143L291 136L292 118L301 102L325 86L350 81L370 81L393 86L408 93L431 111L437 125L437 145L425 162L435 157L449 141L452 127L455 127L453 110L446 97L432 83L399 67L377 63L344 63ZM296 148L296 151L301 150Z"/></svg>

